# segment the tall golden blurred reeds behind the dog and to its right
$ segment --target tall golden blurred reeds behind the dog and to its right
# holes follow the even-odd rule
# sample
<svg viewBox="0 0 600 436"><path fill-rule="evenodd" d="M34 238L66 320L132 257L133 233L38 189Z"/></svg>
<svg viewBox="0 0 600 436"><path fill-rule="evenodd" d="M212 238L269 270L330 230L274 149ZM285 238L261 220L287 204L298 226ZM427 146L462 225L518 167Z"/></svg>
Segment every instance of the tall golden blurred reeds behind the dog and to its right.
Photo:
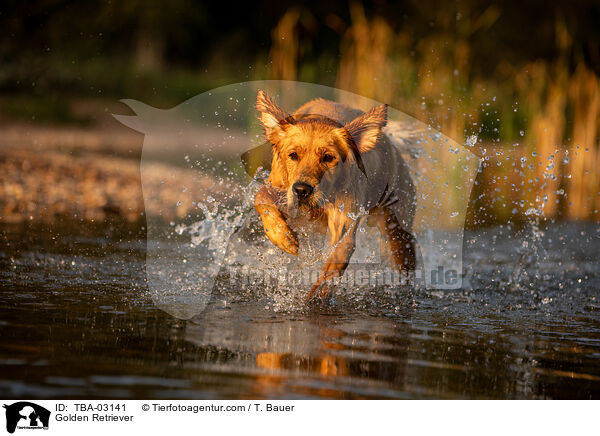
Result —
<svg viewBox="0 0 600 436"><path fill-rule="evenodd" d="M473 151L484 161L470 225L531 216L598 220L599 78L577 60L560 19L553 60L499 62L492 75L473 74L469 41L476 31L493 26L499 14L492 5L480 15L463 16L450 36L417 39L410 29L395 30L385 17L368 18L362 4L353 2L336 86L387 102L461 144L478 137ZM309 79L296 68L297 50L289 49L300 44L294 28L298 17L291 9L274 31L272 77ZM454 183L464 184L460 171ZM440 207L450 211L456 199L441 201Z"/></svg>

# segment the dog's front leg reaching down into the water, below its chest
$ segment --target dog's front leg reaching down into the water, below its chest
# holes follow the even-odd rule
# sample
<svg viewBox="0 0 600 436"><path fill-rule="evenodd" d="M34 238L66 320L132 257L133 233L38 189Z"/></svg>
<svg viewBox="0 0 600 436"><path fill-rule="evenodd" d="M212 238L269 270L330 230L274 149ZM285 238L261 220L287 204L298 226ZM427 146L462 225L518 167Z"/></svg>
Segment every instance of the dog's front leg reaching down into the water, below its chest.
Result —
<svg viewBox="0 0 600 436"><path fill-rule="evenodd" d="M327 262L325 262L325 267L323 268L321 275L310 289L308 297L306 297L307 301L310 300L314 293L320 288L321 298L325 298L330 291L330 283L327 281L335 277L340 277L348 267L350 258L354 253L358 220L351 221L344 227L346 228L346 231L343 232L341 238L338 238L338 242L334 244L335 249L329 258L327 258Z"/></svg>

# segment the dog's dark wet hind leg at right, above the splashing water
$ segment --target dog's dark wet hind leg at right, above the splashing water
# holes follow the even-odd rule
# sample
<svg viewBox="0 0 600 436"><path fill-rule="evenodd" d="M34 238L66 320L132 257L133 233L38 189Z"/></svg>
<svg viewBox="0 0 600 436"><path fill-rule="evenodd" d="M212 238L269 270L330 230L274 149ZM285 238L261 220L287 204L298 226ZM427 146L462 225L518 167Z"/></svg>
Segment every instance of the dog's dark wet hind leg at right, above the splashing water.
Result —
<svg viewBox="0 0 600 436"><path fill-rule="evenodd" d="M414 271L416 268L415 238L401 227L393 209L378 210L376 218L394 266L400 271Z"/></svg>

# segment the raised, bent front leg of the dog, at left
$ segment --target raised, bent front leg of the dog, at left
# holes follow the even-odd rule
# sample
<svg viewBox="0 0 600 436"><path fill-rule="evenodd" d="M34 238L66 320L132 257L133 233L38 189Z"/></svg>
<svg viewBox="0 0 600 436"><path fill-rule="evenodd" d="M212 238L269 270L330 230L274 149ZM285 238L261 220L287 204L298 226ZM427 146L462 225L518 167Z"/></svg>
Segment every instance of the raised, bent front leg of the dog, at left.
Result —
<svg viewBox="0 0 600 436"><path fill-rule="evenodd" d="M283 194L275 188L265 185L258 190L254 197L254 208L262 220L265 234L269 240L286 253L297 256L298 239L277 207L282 198Z"/></svg>

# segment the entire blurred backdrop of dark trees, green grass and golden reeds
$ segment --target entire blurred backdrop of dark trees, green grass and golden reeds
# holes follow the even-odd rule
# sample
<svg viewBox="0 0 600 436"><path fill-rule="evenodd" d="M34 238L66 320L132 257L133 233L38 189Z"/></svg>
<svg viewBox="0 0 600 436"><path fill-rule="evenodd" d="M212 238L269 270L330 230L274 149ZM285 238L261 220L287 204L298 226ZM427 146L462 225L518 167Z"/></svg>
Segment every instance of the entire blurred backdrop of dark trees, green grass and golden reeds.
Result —
<svg viewBox="0 0 600 436"><path fill-rule="evenodd" d="M0 121L93 129L256 79L387 102L484 159L470 225L600 209L600 3L7 0Z"/></svg>

